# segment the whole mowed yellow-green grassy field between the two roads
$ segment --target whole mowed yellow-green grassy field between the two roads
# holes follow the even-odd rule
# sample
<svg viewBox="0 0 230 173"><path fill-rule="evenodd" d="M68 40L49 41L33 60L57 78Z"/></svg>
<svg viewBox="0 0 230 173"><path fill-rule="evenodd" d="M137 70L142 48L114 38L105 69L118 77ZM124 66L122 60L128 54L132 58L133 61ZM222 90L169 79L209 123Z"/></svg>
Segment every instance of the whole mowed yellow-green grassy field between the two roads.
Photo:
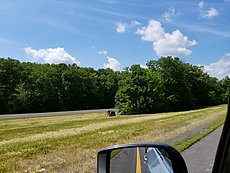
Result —
<svg viewBox="0 0 230 173"><path fill-rule="evenodd" d="M88 113L0 120L0 172L96 172L100 148L120 143L164 142L202 126L205 131L180 138L182 151L220 126L226 105L205 109L107 117Z"/></svg>

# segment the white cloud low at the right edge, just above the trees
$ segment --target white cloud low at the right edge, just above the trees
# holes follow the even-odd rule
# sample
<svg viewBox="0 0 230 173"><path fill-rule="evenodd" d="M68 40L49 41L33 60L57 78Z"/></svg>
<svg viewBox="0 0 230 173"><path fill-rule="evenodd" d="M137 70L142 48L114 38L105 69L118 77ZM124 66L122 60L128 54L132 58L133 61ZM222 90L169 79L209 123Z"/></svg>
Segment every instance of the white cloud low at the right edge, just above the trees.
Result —
<svg viewBox="0 0 230 173"><path fill-rule="evenodd" d="M204 69L208 74L218 79L222 79L225 76L230 77L230 53L226 53L216 63L204 66Z"/></svg>

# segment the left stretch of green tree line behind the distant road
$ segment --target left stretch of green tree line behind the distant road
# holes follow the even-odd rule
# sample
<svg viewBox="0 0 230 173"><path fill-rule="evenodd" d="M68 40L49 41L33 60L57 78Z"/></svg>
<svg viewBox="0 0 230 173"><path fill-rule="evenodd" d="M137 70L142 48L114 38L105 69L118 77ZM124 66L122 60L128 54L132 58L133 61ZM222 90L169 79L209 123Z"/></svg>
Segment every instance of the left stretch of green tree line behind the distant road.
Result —
<svg viewBox="0 0 230 173"><path fill-rule="evenodd" d="M0 59L0 114L113 108L118 73Z"/></svg>

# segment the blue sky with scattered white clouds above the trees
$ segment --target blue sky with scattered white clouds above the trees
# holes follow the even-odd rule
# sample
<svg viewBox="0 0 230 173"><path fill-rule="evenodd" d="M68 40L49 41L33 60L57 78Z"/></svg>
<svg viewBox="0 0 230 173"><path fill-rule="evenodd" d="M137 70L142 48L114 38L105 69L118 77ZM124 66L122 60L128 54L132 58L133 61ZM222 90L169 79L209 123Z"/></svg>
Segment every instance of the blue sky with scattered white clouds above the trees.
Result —
<svg viewBox="0 0 230 173"><path fill-rule="evenodd" d="M230 0L0 0L0 57L122 70L162 56L230 76Z"/></svg>

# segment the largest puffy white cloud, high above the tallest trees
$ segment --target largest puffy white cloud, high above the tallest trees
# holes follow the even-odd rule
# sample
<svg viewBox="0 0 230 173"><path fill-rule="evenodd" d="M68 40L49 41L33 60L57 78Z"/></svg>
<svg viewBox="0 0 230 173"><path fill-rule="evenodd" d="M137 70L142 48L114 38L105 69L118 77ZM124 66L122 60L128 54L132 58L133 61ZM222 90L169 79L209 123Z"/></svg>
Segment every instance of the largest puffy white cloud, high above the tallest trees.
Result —
<svg viewBox="0 0 230 173"><path fill-rule="evenodd" d="M153 42L153 48L159 56L188 56L192 51L187 48L197 44L179 30L166 33L161 23L155 20L149 21L147 27L138 29L136 33L141 35L142 40Z"/></svg>

